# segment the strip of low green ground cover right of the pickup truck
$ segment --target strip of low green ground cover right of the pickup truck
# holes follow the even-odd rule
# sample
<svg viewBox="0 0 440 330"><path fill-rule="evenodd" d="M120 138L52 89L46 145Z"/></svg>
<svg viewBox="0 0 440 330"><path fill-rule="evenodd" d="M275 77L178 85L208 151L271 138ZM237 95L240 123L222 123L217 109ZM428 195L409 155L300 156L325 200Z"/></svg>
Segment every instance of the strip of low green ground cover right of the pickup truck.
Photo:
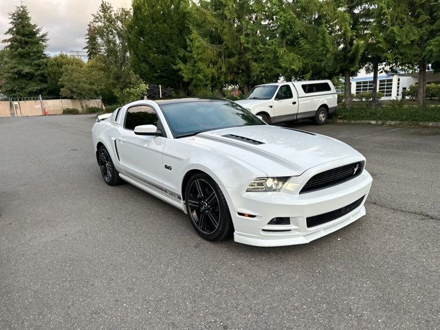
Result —
<svg viewBox="0 0 440 330"><path fill-rule="evenodd" d="M381 109L371 109L366 104L353 104L347 108L340 105L336 120L395 120L398 122L440 122L440 105L418 107L405 105L396 101L395 104L383 105Z"/></svg>

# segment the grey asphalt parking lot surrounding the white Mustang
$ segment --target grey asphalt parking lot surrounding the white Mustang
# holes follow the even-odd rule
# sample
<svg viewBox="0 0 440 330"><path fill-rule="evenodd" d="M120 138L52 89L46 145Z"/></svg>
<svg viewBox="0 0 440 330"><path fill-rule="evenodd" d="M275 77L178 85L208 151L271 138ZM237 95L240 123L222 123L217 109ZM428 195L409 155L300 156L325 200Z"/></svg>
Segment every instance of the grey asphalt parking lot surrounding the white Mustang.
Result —
<svg viewBox="0 0 440 330"><path fill-rule="evenodd" d="M367 214L255 248L104 184L93 124L0 118L0 329L440 329L440 129L292 124L366 156Z"/></svg>

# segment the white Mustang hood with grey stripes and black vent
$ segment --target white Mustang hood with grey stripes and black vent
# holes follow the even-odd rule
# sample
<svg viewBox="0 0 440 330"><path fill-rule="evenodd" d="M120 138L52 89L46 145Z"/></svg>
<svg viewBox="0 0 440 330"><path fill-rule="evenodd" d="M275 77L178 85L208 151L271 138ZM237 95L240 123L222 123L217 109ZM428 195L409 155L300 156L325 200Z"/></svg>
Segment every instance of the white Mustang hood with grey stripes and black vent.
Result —
<svg viewBox="0 0 440 330"><path fill-rule="evenodd" d="M208 131L190 140L241 159L267 175L301 175L344 157L363 158L351 146L331 137L270 125Z"/></svg>

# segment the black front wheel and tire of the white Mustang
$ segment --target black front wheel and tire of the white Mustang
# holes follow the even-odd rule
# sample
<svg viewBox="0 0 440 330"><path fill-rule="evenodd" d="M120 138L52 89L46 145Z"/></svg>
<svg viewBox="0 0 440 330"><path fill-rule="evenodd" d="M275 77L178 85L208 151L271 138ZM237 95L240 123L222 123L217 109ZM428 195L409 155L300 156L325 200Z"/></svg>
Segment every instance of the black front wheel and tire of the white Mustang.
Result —
<svg viewBox="0 0 440 330"><path fill-rule="evenodd" d="M192 227L207 241L221 241L232 231L228 203L209 175L193 175L185 189L186 210Z"/></svg>

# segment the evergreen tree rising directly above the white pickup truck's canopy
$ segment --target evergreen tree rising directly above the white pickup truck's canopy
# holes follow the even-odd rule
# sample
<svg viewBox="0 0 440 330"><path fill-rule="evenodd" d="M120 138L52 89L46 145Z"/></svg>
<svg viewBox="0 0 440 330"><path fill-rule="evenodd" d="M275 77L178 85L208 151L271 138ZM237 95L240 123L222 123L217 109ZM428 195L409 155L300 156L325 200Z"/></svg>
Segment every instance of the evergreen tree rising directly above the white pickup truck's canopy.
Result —
<svg viewBox="0 0 440 330"><path fill-rule="evenodd" d="M341 23L341 17L333 1L272 0L272 3L283 76L290 80L338 75L338 33L335 32L339 30L336 23Z"/></svg>

